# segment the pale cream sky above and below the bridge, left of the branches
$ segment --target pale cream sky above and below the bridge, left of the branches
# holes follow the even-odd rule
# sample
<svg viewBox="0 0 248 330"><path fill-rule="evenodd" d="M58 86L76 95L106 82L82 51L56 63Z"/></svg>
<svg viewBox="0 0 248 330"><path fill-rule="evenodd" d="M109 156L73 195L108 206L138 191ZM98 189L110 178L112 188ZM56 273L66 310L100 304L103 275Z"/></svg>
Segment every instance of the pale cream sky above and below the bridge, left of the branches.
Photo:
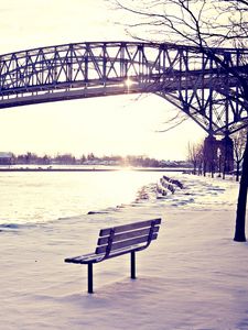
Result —
<svg viewBox="0 0 248 330"><path fill-rule="evenodd" d="M85 41L128 40L106 0L0 0L0 54ZM114 19L115 18L115 19ZM157 96L122 96L0 110L0 151L76 156L147 155L184 160L205 132L191 119L158 130L177 113Z"/></svg>

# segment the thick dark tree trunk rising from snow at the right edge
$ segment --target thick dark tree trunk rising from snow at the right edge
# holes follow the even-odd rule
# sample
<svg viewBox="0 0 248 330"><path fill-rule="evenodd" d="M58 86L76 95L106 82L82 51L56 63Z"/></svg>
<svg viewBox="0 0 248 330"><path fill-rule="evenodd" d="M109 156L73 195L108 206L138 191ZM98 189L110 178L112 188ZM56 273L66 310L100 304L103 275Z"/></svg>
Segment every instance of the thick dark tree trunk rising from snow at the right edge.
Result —
<svg viewBox="0 0 248 330"><path fill-rule="evenodd" d="M234 241L246 242L246 204L248 188L248 139L244 153L242 173L239 183L238 205L236 213L236 229Z"/></svg>

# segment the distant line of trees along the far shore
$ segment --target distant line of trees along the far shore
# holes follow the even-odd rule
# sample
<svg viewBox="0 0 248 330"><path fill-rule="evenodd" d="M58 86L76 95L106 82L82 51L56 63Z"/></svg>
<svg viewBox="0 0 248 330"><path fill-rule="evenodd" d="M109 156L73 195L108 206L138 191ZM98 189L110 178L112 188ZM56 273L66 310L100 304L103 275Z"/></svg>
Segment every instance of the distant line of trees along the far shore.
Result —
<svg viewBox="0 0 248 330"><path fill-rule="evenodd" d="M116 165L116 166L141 166L141 167L165 167L165 166L188 166L184 161L159 161L147 156L96 156L93 153L82 155L77 158L74 155L57 154L56 156L39 156L35 153L28 152L21 155L12 156L11 164L36 164L36 165Z"/></svg>

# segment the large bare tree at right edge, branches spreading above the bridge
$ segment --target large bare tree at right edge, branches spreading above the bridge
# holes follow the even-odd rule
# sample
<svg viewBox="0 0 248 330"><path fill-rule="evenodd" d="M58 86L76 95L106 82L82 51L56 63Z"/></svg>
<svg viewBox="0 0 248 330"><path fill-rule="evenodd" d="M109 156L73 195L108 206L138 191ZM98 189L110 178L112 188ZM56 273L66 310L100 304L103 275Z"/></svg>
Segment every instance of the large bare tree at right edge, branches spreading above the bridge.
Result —
<svg viewBox="0 0 248 330"><path fill-rule="evenodd" d="M229 67L212 47L248 46L247 0L114 0L130 14L129 34L149 42L171 42L196 46L212 56L240 86L238 99L248 106L247 70ZM126 18L127 20L127 18ZM246 63L247 65L247 63ZM231 97L231 96L229 96ZM246 241L246 202L248 188L248 143L246 144L237 204L235 241Z"/></svg>

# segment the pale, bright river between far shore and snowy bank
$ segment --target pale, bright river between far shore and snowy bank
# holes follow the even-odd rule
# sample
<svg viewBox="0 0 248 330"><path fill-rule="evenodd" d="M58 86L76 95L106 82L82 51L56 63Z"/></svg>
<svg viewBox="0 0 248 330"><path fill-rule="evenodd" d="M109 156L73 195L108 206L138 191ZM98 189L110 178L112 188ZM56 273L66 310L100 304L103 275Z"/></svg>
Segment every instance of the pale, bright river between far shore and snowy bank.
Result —
<svg viewBox="0 0 248 330"><path fill-rule="evenodd" d="M39 223L132 202L158 172L2 172L0 226Z"/></svg>

